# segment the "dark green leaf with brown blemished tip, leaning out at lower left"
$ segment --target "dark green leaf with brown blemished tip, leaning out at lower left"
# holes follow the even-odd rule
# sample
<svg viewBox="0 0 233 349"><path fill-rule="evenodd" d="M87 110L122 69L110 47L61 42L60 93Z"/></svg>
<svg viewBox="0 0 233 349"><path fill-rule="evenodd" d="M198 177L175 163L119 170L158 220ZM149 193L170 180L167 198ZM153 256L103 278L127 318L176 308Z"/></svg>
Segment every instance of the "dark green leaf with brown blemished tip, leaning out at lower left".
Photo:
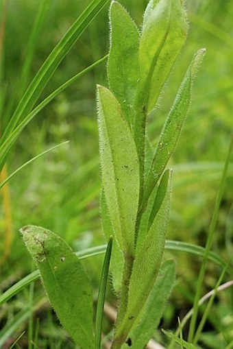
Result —
<svg viewBox="0 0 233 349"><path fill-rule="evenodd" d="M20 231L60 322L80 348L94 348L92 289L79 258L50 230L25 226Z"/></svg>

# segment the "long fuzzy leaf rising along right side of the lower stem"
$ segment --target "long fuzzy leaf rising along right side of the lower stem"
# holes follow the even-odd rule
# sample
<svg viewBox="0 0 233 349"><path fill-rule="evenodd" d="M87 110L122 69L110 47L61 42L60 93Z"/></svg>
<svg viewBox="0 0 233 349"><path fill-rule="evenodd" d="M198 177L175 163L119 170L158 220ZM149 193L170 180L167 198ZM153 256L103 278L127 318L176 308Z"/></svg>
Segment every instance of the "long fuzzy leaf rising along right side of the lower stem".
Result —
<svg viewBox="0 0 233 349"><path fill-rule="evenodd" d="M147 297L158 276L169 222L171 199L171 171L164 172L157 195L164 195L157 210L151 228L145 239L137 243L135 260L130 278L127 309L121 325L116 330L116 338L127 337L137 321L138 314L147 301Z"/></svg>

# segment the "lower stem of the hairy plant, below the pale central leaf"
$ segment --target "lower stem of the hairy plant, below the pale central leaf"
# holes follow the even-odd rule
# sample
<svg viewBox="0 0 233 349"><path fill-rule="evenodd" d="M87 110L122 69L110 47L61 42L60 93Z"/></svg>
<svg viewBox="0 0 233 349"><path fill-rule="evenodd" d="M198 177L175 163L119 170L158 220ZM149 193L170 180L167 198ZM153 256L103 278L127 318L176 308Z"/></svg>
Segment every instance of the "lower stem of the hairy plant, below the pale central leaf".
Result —
<svg viewBox="0 0 233 349"><path fill-rule="evenodd" d="M121 345L124 343L127 336L127 332L128 332L127 328L124 328L124 331L122 332L120 329L120 326L121 326L121 323L123 322L123 317L127 309L130 276L132 274L134 258L133 256L125 255L124 260L125 261L124 261L124 269L123 269L123 277L122 277L121 295L119 298L119 308L117 311L115 333L114 333L114 339L112 341L112 349L121 348Z"/></svg>

